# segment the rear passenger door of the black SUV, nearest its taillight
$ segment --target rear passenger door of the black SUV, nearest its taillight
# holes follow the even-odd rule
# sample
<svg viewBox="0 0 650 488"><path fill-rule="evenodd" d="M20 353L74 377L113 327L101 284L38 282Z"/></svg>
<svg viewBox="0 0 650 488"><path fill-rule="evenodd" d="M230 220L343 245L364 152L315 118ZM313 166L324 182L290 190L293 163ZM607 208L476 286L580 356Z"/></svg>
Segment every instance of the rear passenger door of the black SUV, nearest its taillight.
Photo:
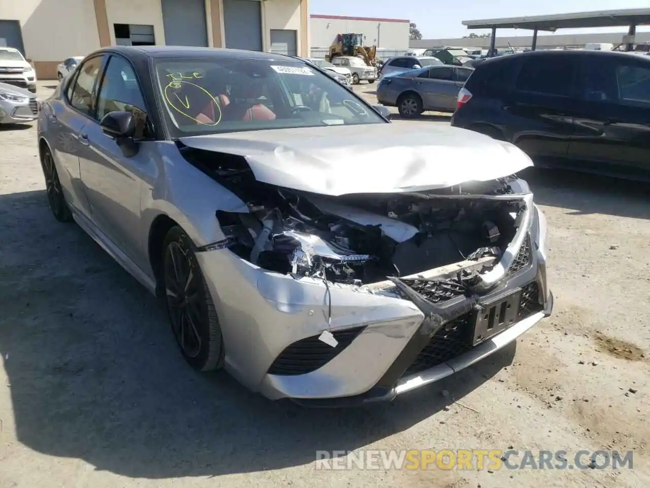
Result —
<svg viewBox="0 0 650 488"><path fill-rule="evenodd" d="M580 102L575 88L578 57L564 53L522 55L514 90L504 95L511 141L536 163L564 164Z"/></svg>

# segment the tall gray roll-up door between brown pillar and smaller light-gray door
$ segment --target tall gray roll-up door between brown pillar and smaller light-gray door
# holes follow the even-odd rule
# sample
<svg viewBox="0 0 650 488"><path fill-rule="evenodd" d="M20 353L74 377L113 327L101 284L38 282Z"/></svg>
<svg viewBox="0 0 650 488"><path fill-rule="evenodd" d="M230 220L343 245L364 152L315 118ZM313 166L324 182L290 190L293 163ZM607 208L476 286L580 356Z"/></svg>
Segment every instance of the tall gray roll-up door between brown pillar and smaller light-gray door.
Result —
<svg viewBox="0 0 650 488"><path fill-rule="evenodd" d="M261 2L256 0L224 0L226 47L262 50Z"/></svg>

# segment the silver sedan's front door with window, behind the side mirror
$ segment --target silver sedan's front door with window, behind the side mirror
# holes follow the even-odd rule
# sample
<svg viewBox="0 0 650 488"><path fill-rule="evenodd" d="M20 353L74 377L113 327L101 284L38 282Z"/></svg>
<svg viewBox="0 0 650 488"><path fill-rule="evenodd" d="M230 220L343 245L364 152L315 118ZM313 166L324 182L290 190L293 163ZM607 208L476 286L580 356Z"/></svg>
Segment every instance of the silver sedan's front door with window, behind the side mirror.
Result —
<svg viewBox="0 0 650 488"><path fill-rule="evenodd" d="M117 142L105 135L99 125L112 111L129 111L136 116L138 153L126 157ZM88 141L87 157L80 158L81 180L99 230L131 261L146 269L140 234L140 188L145 173L155 165L148 154L151 141L146 122L146 105L131 64L111 55L99 83L94 121L81 137Z"/></svg>

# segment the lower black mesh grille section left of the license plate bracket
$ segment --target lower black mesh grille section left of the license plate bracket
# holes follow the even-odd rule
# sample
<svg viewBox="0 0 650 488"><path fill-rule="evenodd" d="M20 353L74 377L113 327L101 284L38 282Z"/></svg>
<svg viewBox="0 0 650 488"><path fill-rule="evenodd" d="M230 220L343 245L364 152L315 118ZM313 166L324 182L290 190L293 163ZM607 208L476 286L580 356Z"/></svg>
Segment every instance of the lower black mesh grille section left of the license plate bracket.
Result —
<svg viewBox="0 0 650 488"><path fill-rule="evenodd" d="M420 351L404 375L428 370L469 351L472 348L471 317L471 314L467 314L443 325Z"/></svg>

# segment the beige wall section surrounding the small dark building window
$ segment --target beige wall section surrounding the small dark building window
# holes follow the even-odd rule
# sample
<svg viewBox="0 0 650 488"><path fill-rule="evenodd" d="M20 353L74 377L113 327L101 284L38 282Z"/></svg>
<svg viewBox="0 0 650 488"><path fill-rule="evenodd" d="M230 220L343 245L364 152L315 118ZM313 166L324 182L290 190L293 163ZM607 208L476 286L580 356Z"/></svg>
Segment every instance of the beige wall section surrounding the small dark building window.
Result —
<svg viewBox="0 0 650 488"><path fill-rule="evenodd" d="M109 18L110 44L115 44L115 23L153 25L156 44L164 44L160 0L106 0L106 13Z"/></svg>

